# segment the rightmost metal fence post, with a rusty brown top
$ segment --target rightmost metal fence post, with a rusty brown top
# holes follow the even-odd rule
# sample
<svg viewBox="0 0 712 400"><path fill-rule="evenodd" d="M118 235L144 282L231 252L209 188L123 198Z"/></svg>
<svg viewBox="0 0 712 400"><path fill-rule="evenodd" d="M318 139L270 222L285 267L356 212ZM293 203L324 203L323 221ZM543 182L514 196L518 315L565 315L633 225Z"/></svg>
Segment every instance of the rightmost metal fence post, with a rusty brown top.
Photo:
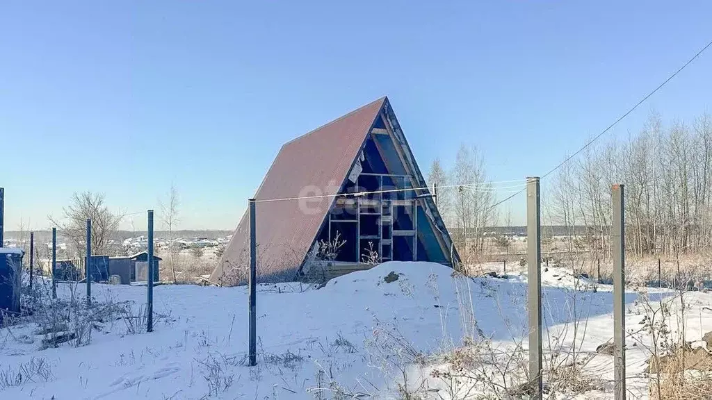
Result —
<svg viewBox="0 0 712 400"><path fill-rule="evenodd" d="M623 185L612 187L614 396L625 399L625 216Z"/></svg>

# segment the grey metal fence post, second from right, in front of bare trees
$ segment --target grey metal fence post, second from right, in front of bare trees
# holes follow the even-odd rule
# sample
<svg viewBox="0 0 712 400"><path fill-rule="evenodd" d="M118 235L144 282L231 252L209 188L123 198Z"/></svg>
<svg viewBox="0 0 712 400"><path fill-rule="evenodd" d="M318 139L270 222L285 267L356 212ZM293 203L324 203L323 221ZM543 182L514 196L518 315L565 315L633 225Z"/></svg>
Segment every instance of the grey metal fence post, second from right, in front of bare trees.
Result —
<svg viewBox="0 0 712 400"><path fill-rule="evenodd" d="M543 391L541 356L541 219L539 178L527 178L527 265L529 269L529 380L532 399Z"/></svg>

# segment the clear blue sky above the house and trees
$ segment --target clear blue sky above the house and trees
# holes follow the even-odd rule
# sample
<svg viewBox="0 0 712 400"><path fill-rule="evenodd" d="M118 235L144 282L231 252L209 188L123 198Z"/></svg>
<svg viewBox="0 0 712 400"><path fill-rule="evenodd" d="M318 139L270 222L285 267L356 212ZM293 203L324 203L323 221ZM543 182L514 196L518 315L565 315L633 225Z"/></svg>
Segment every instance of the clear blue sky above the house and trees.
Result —
<svg viewBox="0 0 712 400"><path fill-rule="evenodd" d="M465 142L493 179L543 174L710 41L711 15L710 1L6 0L6 229L48 228L73 191L157 209L172 181L182 228L234 228L283 142L382 95L424 170ZM607 138L651 109L691 122L711 107L709 51Z"/></svg>

